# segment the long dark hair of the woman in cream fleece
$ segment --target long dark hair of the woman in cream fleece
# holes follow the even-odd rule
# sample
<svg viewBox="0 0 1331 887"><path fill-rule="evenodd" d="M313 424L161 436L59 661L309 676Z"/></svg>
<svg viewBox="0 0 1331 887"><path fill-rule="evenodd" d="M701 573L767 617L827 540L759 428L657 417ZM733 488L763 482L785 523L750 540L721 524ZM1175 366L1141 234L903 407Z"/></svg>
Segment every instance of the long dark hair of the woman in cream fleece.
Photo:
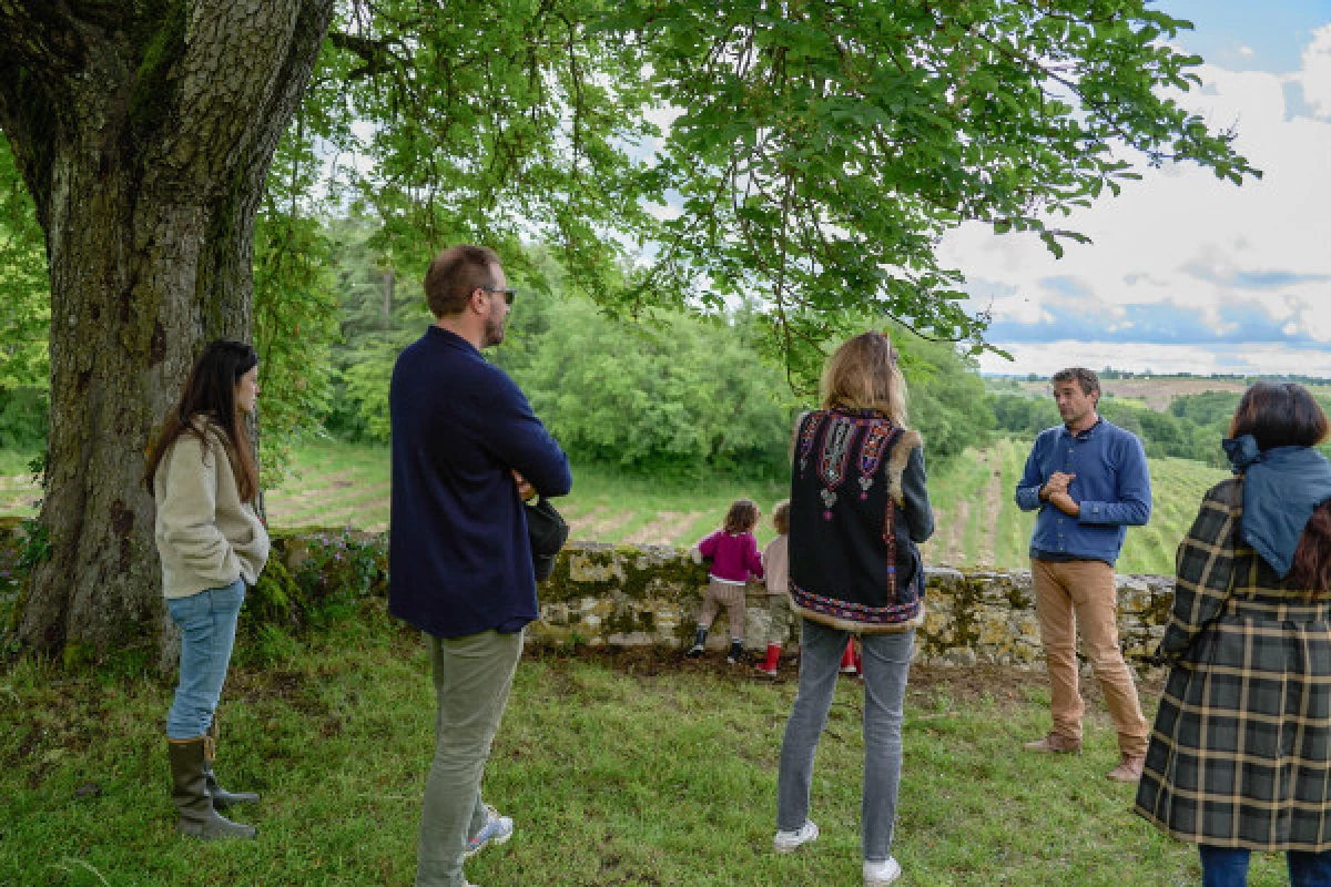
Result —
<svg viewBox="0 0 1331 887"><path fill-rule="evenodd" d="M258 495L258 469L254 467L254 453L250 451L244 420L236 408L236 384L257 366L258 355L244 342L218 339L204 348L185 379L180 402L162 419L161 431L148 447L144 484L149 493L153 492L157 467L181 435L194 435L206 448L208 440L193 422L194 416L202 416L226 436L226 457L232 460L241 501L254 501Z"/></svg>

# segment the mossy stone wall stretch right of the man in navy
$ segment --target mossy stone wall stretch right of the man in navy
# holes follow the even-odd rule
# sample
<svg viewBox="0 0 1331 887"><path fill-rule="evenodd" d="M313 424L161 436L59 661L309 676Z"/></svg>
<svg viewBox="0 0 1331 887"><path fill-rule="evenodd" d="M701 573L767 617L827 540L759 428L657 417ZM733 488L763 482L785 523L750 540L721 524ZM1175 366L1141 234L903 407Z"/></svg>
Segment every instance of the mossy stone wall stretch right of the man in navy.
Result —
<svg viewBox="0 0 1331 887"><path fill-rule="evenodd" d="M1042 668L1029 570L930 568L926 577L917 661ZM542 620L531 626L530 638L535 644L684 646L692 641L705 586L707 570L683 549L575 544L540 586ZM1171 577L1118 577L1119 634L1129 660L1154 652L1171 600ZM751 586L744 634L752 649L768 641L767 608L764 590ZM728 634L723 609L708 646L723 649Z"/></svg>

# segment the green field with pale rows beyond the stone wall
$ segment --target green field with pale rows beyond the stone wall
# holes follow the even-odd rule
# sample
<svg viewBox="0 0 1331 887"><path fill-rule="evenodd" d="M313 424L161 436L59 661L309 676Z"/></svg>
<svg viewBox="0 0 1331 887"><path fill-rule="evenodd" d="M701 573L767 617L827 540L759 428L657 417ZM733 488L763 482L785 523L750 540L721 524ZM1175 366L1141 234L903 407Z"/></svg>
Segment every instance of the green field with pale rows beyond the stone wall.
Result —
<svg viewBox="0 0 1331 887"><path fill-rule="evenodd" d="M1025 440L1001 439L930 471L938 531L925 545L928 563L993 568L1026 564L1034 515L1018 511L1012 495L1028 447ZM28 459L11 453L0 460L0 513L33 513L37 493L23 472ZM1202 493L1225 476L1201 463L1153 459L1154 516L1147 527L1129 529L1118 570L1171 573L1174 549ZM772 481L662 481L579 465L574 469L574 492L559 501L559 509L575 539L691 545L720 525L731 501L747 496L763 508L757 535L765 544L773 535L768 520L772 504L787 495L785 484ZM268 491L266 507L276 527L387 529L387 449L338 442L303 447L286 481Z"/></svg>

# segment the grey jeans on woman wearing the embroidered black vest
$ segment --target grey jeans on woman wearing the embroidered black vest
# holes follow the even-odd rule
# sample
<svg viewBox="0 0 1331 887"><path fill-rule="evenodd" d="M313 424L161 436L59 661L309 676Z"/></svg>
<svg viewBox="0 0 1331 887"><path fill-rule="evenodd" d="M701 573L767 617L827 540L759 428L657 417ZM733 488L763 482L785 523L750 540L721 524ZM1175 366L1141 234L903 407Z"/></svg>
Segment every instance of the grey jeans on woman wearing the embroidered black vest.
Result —
<svg viewBox="0 0 1331 887"><path fill-rule="evenodd" d="M804 620L800 633L800 689L781 742L776 827L795 831L809 815L813 755L828 722L841 653L849 632ZM901 719L914 632L861 634L864 660L864 794L860 847L868 862L892 855L901 785Z"/></svg>

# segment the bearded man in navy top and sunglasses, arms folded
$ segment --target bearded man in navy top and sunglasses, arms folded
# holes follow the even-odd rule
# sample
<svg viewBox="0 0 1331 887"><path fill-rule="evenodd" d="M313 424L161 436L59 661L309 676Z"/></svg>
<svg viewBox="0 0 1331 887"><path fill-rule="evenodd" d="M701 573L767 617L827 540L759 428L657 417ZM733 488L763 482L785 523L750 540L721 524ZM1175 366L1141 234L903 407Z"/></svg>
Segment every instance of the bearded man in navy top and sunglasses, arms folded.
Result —
<svg viewBox="0 0 1331 887"><path fill-rule="evenodd" d="M466 887L462 860L512 835L480 778L539 614L523 495L563 496L568 459L512 379L480 355L514 291L499 257L454 246L430 263L437 322L398 355L389 390L389 610L425 632L438 702L417 887Z"/></svg>

